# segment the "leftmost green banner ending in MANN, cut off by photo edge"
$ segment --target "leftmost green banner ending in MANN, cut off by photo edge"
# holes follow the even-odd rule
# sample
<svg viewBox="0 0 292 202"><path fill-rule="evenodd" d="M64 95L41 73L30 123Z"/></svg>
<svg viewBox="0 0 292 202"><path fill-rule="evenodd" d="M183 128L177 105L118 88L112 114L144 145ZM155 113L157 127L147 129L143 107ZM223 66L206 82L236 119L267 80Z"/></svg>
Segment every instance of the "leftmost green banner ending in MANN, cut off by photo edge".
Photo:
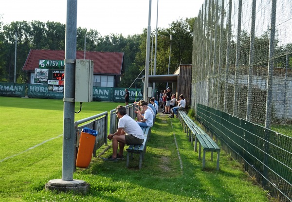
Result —
<svg viewBox="0 0 292 202"><path fill-rule="evenodd" d="M25 97L26 84L0 83L0 96Z"/></svg>

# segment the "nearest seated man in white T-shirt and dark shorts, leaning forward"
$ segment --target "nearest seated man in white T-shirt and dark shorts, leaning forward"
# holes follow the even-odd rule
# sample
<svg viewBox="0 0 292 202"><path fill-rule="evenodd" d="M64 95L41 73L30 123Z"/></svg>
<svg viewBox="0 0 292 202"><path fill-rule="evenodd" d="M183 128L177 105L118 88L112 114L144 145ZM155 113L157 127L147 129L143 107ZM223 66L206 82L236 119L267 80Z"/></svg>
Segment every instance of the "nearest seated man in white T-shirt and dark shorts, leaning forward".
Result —
<svg viewBox="0 0 292 202"><path fill-rule="evenodd" d="M140 145L144 142L143 130L134 119L128 116L126 108L119 105L116 110L116 114L119 118L118 129L115 133L108 135L108 139L112 140L112 155L109 158L103 158L105 161L123 159L125 144ZM120 148L119 153L117 153L118 146Z"/></svg>

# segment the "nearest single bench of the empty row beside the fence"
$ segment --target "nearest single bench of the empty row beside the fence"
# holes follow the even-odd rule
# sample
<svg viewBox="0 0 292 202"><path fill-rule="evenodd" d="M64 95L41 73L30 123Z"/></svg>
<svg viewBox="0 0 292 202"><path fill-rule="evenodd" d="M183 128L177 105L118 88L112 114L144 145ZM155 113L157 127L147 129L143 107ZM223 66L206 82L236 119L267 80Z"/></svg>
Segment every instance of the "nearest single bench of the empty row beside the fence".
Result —
<svg viewBox="0 0 292 202"><path fill-rule="evenodd" d="M211 161L213 161L213 152L217 152L217 166L219 170L220 147L207 134L197 134L195 137L195 151L197 151L197 141L199 141L199 160L201 160L201 147L203 148L203 168L205 167L206 151L211 151Z"/></svg>

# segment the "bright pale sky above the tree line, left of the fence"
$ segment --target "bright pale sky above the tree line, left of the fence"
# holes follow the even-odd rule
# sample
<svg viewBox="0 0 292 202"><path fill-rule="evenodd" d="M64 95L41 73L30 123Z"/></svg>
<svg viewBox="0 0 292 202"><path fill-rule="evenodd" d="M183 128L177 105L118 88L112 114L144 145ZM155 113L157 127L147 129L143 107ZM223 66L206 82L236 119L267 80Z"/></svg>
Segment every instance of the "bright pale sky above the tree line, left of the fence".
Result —
<svg viewBox="0 0 292 202"><path fill-rule="evenodd" d="M0 21L38 20L66 24L67 0L0 0ZM5 2L4 2L5 1ZM197 17L204 0L151 0L151 30L168 28L172 21ZM149 0L79 0L77 27L101 36L141 34L148 27Z"/></svg>

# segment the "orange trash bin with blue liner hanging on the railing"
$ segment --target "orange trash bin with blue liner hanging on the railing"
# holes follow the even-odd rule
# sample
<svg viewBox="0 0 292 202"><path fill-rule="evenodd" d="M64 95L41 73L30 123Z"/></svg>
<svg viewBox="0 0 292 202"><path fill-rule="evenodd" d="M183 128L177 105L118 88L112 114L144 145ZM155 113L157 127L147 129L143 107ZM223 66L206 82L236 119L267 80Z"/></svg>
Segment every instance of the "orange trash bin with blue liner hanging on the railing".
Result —
<svg viewBox="0 0 292 202"><path fill-rule="evenodd" d="M82 129L79 147L77 152L76 166L81 168L86 168L89 166L92 158L93 148L95 144L96 136L84 132L86 128ZM91 129L89 129L91 130ZM95 131L95 130L93 130ZM95 131L97 133L97 131Z"/></svg>

